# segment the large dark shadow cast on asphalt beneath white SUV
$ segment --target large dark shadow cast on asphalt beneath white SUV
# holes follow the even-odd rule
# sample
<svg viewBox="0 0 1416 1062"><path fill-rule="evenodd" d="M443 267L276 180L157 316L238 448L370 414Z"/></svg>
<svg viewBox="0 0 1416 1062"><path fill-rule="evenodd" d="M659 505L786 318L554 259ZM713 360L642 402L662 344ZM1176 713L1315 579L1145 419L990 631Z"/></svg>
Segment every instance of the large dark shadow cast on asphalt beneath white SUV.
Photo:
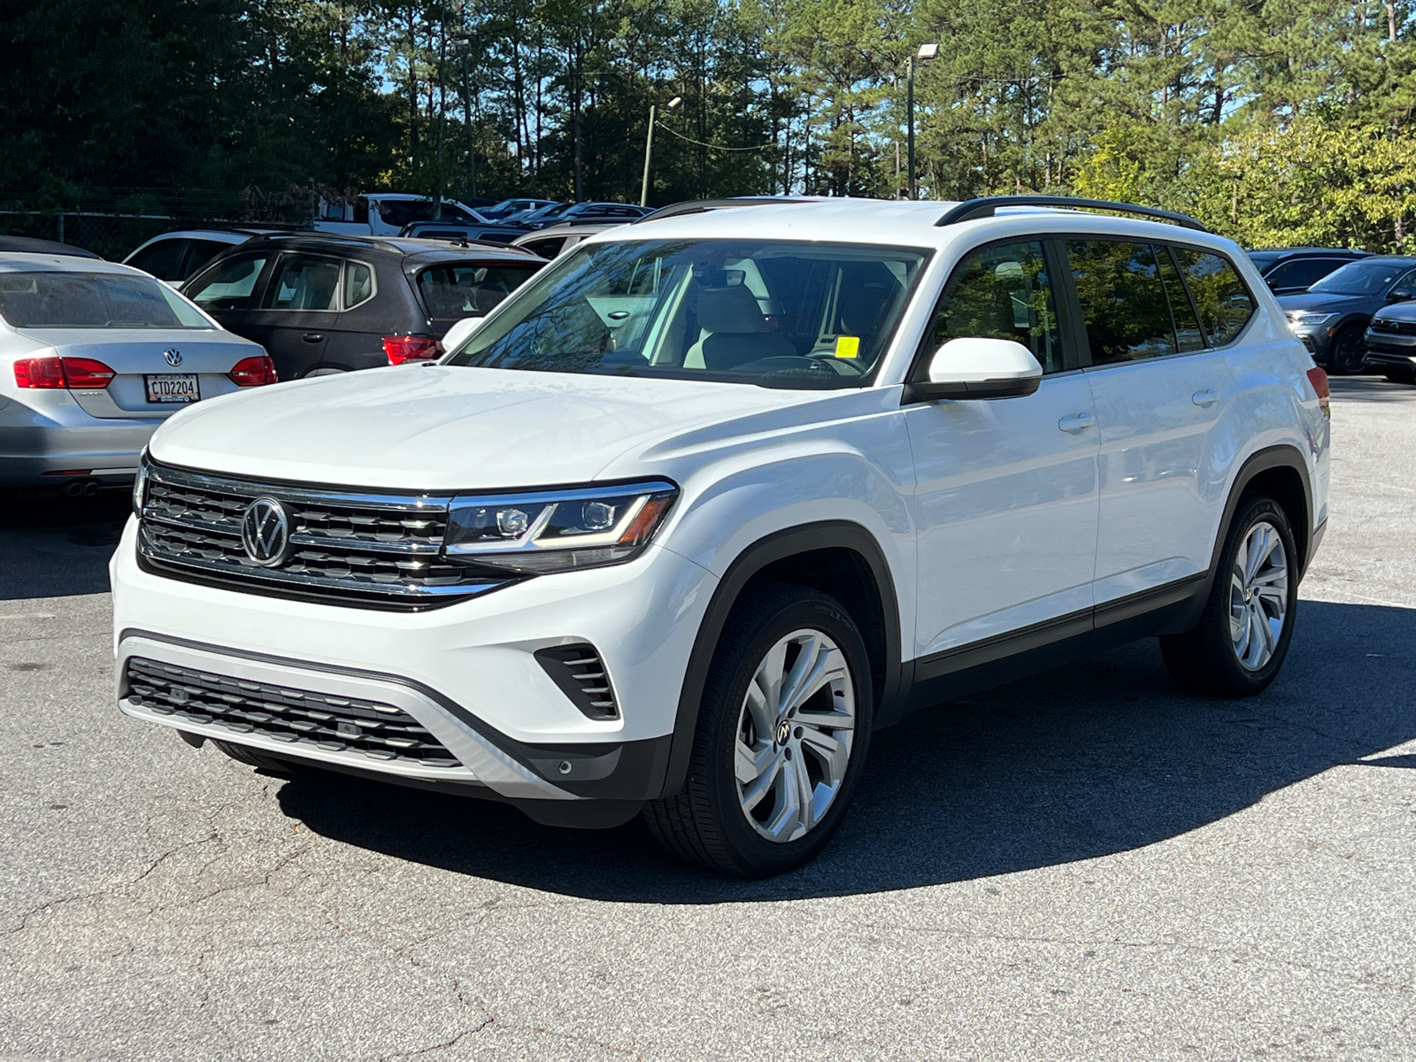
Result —
<svg viewBox="0 0 1416 1062"><path fill-rule="evenodd" d="M1151 640L877 733L833 843L765 882L680 864L637 820L554 830L504 804L326 775L289 782L279 800L347 844L620 902L840 896L1087 860L1177 837L1416 738L1416 609L1303 602L1300 613L1283 674L1253 700L1181 692ZM1416 755L1369 763L1409 767Z"/></svg>

